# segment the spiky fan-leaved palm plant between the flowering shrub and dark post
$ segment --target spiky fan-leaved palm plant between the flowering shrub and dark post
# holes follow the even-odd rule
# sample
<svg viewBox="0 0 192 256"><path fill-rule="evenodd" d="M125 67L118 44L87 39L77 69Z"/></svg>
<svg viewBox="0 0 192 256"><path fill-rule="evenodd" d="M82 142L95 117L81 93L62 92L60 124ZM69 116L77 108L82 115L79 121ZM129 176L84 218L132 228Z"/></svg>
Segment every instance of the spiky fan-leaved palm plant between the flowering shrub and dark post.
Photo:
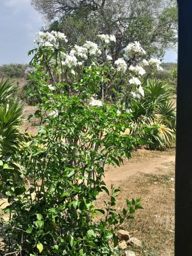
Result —
<svg viewBox="0 0 192 256"><path fill-rule="evenodd" d="M171 88L164 81L147 79L144 86L145 98L131 103L133 130L142 137L138 122L152 125L149 134L151 148L164 148L175 140L176 109L171 100ZM139 132L141 130L141 132Z"/></svg>

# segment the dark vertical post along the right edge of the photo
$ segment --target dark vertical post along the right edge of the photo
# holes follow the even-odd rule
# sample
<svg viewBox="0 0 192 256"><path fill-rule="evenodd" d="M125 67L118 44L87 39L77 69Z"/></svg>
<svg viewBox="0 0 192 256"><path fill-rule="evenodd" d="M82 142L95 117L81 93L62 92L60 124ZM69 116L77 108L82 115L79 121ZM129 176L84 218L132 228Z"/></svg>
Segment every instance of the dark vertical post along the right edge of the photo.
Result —
<svg viewBox="0 0 192 256"><path fill-rule="evenodd" d="M178 0L175 255L192 255L192 0ZM168 202L167 202L168 203Z"/></svg>

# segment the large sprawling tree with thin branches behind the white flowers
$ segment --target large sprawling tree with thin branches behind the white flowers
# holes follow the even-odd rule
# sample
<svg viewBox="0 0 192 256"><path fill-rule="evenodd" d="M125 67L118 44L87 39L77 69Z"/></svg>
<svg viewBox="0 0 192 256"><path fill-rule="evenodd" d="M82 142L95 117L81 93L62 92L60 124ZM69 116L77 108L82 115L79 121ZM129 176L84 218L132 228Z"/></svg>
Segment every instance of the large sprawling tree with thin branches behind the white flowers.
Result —
<svg viewBox="0 0 192 256"><path fill-rule="evenodd" d="M177 42L175 0L31 0L47 21L48 30L65 32L70 44L93 40L97 34L114 34L114 60L134 40L149 56L163 57Z"/></svg>

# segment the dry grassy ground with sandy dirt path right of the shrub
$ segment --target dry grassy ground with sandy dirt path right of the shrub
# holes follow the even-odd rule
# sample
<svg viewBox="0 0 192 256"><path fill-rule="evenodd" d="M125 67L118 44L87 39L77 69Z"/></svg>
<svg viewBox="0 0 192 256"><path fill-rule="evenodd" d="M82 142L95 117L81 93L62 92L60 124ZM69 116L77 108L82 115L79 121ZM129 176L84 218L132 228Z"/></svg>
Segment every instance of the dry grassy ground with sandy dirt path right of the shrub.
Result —
<svg viewBox="0 0 192 256"><path fill-rule="evenodd" d="M135 220L126 221L121 227L142 242L134 250L142 256L174 255L174 200L175 200L175 148L167 151L138 150L124 165L109 168L105 182L121 191L116 207L122 211L126 199L141 198L144 209L137 211ZM99 197L101 207L106 196Z"/></svg>

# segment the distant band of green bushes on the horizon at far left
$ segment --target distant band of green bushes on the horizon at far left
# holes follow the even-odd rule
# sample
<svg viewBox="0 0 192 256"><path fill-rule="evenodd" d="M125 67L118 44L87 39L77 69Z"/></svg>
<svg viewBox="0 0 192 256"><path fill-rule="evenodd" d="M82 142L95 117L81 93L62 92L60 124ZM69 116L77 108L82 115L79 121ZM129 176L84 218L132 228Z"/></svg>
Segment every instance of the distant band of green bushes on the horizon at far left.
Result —
<svg viewBox="0 0 192 256"><path fill-rule="evenodd" d="M0 66L0 77L22 78L29 67L27 64L10 63Z"/></svg>

